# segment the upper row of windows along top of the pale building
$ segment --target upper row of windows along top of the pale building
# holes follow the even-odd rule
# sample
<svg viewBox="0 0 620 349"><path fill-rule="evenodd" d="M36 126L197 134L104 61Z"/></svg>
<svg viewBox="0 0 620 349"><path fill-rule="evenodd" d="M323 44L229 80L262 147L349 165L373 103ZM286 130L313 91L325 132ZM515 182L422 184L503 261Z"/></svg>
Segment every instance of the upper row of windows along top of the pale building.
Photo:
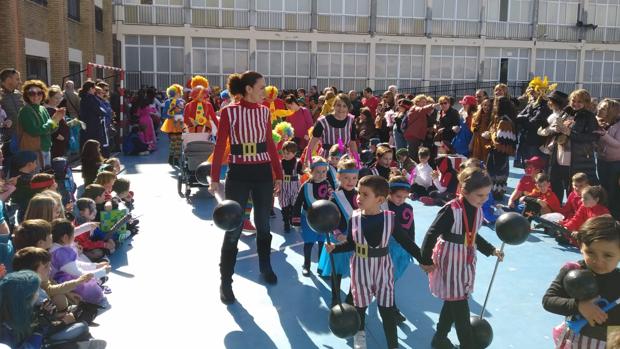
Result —
<svg viewBox="0 0 620 349"><path fill-rule="evenodd" d="M234 9L248 11L251 0L191 0L195 9ZM69 3L77 1L69 1ZM575 25L580 0L540 0L539 23ZM184 6L183 0L123 0L126 5ZM370 16L370 0L318 0L317 14L333 16ZM484 15L488 21L531 23L535 0L492 0L485 13L482 0L433 0L433 19L479 21ZM70 5L71 7L71 5ZM311 0L256 0L257 11L310 14ZM79 8L79 5L78 5ZM603 27L617 26L620 22L620 3L614 0L591 0L585 6L589 21ZM79 11L78 11L79 15ZM426 18L426 0L377 0L377 16L390 18Z"/></svg>

